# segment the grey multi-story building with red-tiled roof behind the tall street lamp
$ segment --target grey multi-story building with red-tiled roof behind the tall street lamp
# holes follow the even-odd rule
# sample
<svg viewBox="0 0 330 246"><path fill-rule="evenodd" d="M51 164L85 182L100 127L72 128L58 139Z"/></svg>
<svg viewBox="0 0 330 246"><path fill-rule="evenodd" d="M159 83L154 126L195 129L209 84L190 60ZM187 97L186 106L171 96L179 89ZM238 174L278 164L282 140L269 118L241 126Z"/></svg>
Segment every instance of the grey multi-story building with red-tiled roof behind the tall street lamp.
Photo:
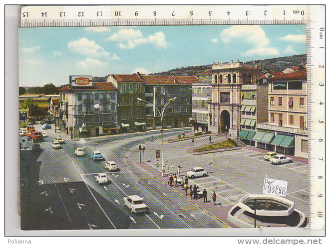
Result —
<svg viewBox="0 0 330 246"><path fill-rule="evenodd" d="M161 128L161 117L165 104L176 97L165 108L163 114L163 127L189 126L189 117L192 110L192 83L198 79L196 76L167 76L142 75L145 81L145 122L146 129ZM141 97L142 98L142 97ZM143 99L144 99L143 98Z"/></svg>

